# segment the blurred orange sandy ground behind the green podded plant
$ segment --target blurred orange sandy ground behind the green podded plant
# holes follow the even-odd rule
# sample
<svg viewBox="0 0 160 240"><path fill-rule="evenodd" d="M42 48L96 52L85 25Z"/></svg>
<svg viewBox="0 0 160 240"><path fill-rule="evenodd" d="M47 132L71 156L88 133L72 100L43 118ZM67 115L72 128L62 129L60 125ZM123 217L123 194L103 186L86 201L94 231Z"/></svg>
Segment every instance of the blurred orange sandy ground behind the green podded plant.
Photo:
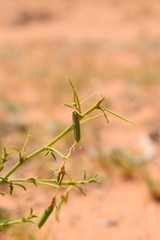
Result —
<svg viewBox="0 0 160 240"><path fill-rule="evenodd" d="M159 1L6 0L0 7L1 146L22 148L30 129L30 153L71 122L64 118L70 110L63 106L72 102L68 78L80 99L98 92L83 103L84 108L102 93L105 106L138 124L109 115L109 125L101 118L93 126L82 126L81 150L76 148L68 164L70 175L81 178L83 168L89 176L96 171L102 185L85 187L86 197L74 189L60 223L53 214L42 230L26 224L22 230L0 233L1 239L160 239L160 206L142 175L135 168L136 177L124 179L122 169L105 162L113 149L127 149L132 157L149 162L147 171L159 180ZM69 146L68 138L56 145L64 152ZM6 168L16 159L13 153ZM52 165L51 158L37 159L13 177L48 177ZM21 216L21 209L26 213L31 204L42 212L53 193L40 189L17 190L13 198L6 193L1 212Z"/></svg>

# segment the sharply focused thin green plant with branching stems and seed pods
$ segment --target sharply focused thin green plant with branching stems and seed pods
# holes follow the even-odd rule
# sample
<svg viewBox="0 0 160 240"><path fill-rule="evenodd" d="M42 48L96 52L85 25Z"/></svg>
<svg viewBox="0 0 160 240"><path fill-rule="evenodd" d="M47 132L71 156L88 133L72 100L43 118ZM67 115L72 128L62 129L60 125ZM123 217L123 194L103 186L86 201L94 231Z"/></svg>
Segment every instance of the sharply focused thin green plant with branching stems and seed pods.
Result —
<svg viewBox="0 0 160 240"><path fill-rule="evenodd" d="M64 131L62 131L56 138L52 139L49 143L40 147L38 150L26 155L26 145L27 145L27 142L28 142L29 136L30 136L28 134L26 142L24 143L22 150L18 149L17 147L13 147L13 146L11 147L12 149L17 151L18 160L17 160L16 164L14 166L12 166L9 169L9 171L7 171L7 173L0 176L0 184L1 185L7 184L9 187L10 194L13 193L13 190L15 189L16 186L19 186L23 190L26 190L26 186L24 185L24 183L26 183L26 182L32 183L36 186L41 184L41 185L47 185L48 187L55 188L55 193L53 194L52 199L50 200L50 203L45 208L43 214L39 218L39 221L38 221L39 228L41 228L44 225L44 223L46 222L46 220L48 219L48 217L51 215L51 213L53 211L56 211L56 218L57 218L57 220L59 219L59 213L61 210L61 206L63 205L64 202L67 201L68 194L69 194L70 190L72 189L72 187L77 187L84 195L86 195L84 189L80 185L88 184L91 182L100 184L100 182L97 180L97 176L98 176L97 173L92 178L87 179L86 171L84 170L84 177L82 180L72 180L71 177L67 174L67 170L66 170L67 161L71 161L70 155L71 155L72 151L74 150L75 145L80 141L80 137L81 137L80 136L80 125L86 123L87 121L98 118L101 115L104 115L107 122L109 122L106 112L109 112L109 113L115 115L116 117L119 117L119 118L125 120L126 122L131 122L131 123L135 124L134 122L112 112L111 110L102 107L101 104L102 104L103 100L105 99L105 97L103 97L103 96L101 96L100 99L92 107L90 107L88 110L86 110L84 113L82 113L78 94L77 94L73 84L71 83L71 81L70 81L70 85L73 90L73 105L70 105L70 104L65 104L65 105L74 109L73 124L68 126ZM92 118L88 118L88 119L82 121L82 119L84 117L86 117L89 113L91 113L97 109L102 111L102 114L96 115ZM75 115L76 115L76 118L75 118ZM68 154L65 156L63 153L61 153L55 147L53 147L53 145L72 130L74 132L75 142L73 143L72 147L68 150ZM47 155L51 154L55 160L56 160L56 155L59 155L62 158L62 163L61 163L60 167L57 170L51 169L51 171L53 173L52 178L50 178L50 179L40 179L38 177L25 178L25 179L11 178L11 175L17 169L19 169L24 163L30 161L31 159L33 159L35 156L38 156L42 152L45 153L45 157ZM8 152L6 150L6 148L3 148L3 154L1 156L1 161L0 161L0 171L4 171L5 163L8 161L10 154L11 154L11 152ZM65 175L68 176L69 180L64 180ZM63 190L63 189L65 189L65 190ZM63 194L60 196L60 198L58 198L58 194L60 193L60 190L63 191ZM3 192L0 192L0 194L1 194L1 197L4 197ZM0 226L9 226L9 225L13 225L13 224L22 223L22 222L34 223L33 218L37 218L37 217L38 217L38 214L33 213L33 209L31 208L30 213L27 217L23 217L21 219L17 219L17 220L13 220L13 221L10 221L8 219L1 220Z"/></svg>

